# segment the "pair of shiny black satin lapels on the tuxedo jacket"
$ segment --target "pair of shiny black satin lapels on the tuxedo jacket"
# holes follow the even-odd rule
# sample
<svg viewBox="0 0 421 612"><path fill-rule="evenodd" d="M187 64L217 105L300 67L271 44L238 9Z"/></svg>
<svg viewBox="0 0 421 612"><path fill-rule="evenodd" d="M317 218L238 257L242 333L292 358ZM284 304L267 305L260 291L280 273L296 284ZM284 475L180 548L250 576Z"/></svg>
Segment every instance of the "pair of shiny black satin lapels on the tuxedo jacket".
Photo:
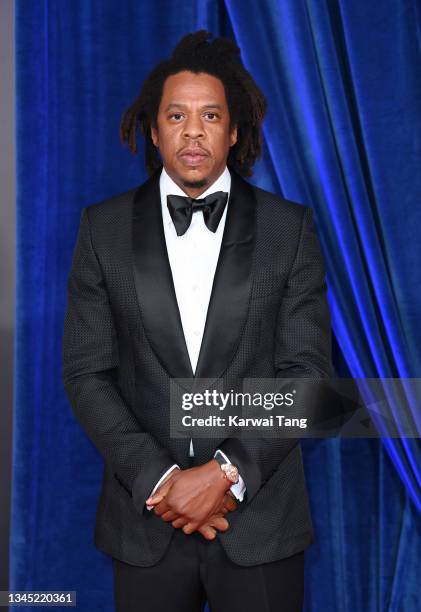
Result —
<svg viewBox="0 0 421 612"><path fill-rule="evenodd" d="M230 199L195 375L184 338L165 244L157 171L135 192L133 268L146 336L173 378L218 378L237 350L253 278L255 196L230 169Z"/></svg>

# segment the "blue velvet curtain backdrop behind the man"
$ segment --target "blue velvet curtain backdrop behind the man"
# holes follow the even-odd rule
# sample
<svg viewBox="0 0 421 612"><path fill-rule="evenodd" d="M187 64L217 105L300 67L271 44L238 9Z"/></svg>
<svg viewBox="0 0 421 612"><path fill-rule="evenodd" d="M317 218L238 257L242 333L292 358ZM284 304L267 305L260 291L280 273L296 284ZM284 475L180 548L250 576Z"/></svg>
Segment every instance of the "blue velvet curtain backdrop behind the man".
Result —
<svg viewBox="0 0 421 612"><path fill-rule="evenodd" d="M110 560L93 547L102 461L61 383L66 279L81 208L146 178L119 143L119 119L183 34L234 38L267 95L252 180L314 208L338 373L421 376L420 10L417 0L17 0L11 589L76 590L79 610L113 610ZM303 450L317 537L305 609L419 610L419 440Z"/></svg>

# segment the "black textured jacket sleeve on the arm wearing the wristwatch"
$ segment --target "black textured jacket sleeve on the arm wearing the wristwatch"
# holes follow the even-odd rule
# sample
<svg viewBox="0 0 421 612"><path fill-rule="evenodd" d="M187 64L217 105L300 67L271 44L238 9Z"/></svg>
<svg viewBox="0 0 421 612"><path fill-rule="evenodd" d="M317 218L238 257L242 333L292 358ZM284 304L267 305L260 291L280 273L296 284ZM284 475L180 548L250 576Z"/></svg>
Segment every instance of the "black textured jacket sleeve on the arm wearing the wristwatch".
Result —
<svg viewBox="0 0 421 612"><path fill-rule="evenodd" d="M325 267L310 207L304 207L299 243L279 307L274 366L277 378L333 376ZM247 503L298 442L296 438L227 438L219 444L245 481Z"/></svg>

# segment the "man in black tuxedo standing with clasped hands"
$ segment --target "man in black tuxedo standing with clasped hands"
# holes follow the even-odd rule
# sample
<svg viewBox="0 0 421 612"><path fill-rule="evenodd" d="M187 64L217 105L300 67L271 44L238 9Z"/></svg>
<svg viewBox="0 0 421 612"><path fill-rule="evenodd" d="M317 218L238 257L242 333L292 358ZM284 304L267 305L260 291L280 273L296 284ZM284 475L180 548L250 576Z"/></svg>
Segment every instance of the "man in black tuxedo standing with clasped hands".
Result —
<svg viewBox="0 0 421 612"><path fill-rule="evenodd" d="M311 209L244 180L266 103L228 39L184 37L121 136L150 178L82 211L64 384L105 462L95 544L117 610L301 610L313 529L297 440L174 439L172 378L331 374Z"/></svg>

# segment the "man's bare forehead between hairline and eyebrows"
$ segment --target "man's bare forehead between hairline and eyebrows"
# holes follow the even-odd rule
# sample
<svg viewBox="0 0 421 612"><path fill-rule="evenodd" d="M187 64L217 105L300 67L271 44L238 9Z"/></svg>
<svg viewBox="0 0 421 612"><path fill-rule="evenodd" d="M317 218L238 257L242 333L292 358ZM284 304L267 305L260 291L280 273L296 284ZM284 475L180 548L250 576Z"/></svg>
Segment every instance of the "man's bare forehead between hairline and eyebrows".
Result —
<svg viewBox="0 0 421 612"><path fill-rule="evenodd" d="M225 89L222 81L211 74L204 72L196 74L187 70L167 77L162 90L161 106L189 102L204 104L214 102L225 105Z"/></svg>

